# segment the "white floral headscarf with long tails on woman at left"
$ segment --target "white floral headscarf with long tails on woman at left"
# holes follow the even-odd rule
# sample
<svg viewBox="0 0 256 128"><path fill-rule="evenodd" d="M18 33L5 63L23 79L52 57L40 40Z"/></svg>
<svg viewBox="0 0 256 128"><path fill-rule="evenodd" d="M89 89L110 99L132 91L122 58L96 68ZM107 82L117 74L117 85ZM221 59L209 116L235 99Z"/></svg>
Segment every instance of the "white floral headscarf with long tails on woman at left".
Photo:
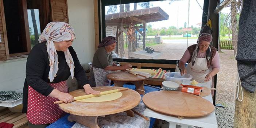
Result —
<svg viewBox="0 0 256 128"><path fill-rule="evenodd" d="M47 53L49 55L50 71L49 79L53 82L54 77L56 77L58 71L58 54L56 52L53 42L61 42L65 40L74 40L75 33L74 29L65 22L50 22L44 28L42 34L40 35L38 41L39 43L47 41ZM67 65L69 66L72 79L74 78L74 61L69 52L69 49L64 52Z"/></svg>

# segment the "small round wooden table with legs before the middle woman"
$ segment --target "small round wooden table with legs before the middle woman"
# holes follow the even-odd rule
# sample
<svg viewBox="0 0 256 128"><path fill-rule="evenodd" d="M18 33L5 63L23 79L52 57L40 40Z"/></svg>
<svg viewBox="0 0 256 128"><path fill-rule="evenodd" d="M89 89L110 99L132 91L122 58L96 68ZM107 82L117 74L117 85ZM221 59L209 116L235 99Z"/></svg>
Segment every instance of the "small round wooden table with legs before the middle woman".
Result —
<svg viewBox="0 0 256 128"><path fill-rule="evenodd" d="M111 79L114 82L115 86L119 86L119 87L123 87L123 85L126 83L132 83L136 86L136 91L138 93L145 94L144 85L143 85L144 80L147 78L150 78L151 75L149 73L144 73L140 71L134 71L134 72L144 75L146 76L146 78L139 75L133 75L126 71L110 73L107 75L107 78Z"/></svg>

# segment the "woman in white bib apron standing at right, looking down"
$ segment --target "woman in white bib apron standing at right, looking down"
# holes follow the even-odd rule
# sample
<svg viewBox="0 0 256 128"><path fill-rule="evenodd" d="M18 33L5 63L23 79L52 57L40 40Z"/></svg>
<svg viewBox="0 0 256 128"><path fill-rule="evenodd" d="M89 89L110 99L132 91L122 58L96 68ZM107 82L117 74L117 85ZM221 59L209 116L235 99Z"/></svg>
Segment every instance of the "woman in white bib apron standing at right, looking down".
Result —
<svg viewBox="0 0 256 128"><path fill-rule="evenodd" d="M197 44L187 48L179 61L181 75L190 74L197 82L206 82L206 87L212 87L212 77L220 71L220 57L215 47L210 46L212 35L202 33ZM189 64L185 67L185 63Z"/></svg>

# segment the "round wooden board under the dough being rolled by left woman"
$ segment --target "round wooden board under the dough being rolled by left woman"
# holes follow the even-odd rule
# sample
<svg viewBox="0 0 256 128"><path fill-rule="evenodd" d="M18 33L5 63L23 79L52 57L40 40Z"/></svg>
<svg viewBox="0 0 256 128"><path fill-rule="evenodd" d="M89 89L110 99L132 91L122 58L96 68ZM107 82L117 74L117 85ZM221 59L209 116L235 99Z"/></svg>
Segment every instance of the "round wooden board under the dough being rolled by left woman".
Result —
<svg viewBox="0 0 256 128"><path fill-rule="evenodd" d="M108 91L113 89L120 89L122 87L112 87L112 86L101 86L101 87L93 87L94 90L97 91ZM135 90L124 90L121 91L123 95L112 101L105 102L81 102L74 101L68 104L62 103L59 104L59 108L63 111L78 115L78 116L104 116L115 113L120 113L127 111L129 109L134 108L140 103L140 94ZM73 97L86 95L84 89L75 90L70 92Z"/></svg>

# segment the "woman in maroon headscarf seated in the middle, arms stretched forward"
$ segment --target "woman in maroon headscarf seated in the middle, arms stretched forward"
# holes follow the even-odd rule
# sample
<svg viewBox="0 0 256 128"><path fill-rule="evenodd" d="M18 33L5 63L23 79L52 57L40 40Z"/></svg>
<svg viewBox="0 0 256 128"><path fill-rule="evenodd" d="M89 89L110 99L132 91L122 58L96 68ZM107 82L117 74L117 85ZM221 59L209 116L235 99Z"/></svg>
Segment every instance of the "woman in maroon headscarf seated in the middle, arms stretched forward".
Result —
<svg viewBox="0 0 256 128"><path fill-rule="evenodd" d="M112 59L112 51L116 47L116 38L108 36L102 39L93 56L93 64L90 72L90 84L92 86L110 86L110 80L106 77L116 70L125 70L131 65L117 66Z"/></svg>

